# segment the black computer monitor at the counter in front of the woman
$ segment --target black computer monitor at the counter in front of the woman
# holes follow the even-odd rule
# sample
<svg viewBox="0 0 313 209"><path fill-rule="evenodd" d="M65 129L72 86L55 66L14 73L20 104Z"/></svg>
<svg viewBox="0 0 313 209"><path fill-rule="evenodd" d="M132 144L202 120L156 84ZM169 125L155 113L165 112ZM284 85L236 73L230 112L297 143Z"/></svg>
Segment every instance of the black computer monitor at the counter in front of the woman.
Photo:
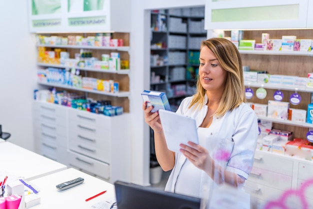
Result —
<svg viewBox="0 0 313 209"><path fill-rule="evenodd" d="M199 209L200 198L134 183L115 181L118 209Z"/></svg>

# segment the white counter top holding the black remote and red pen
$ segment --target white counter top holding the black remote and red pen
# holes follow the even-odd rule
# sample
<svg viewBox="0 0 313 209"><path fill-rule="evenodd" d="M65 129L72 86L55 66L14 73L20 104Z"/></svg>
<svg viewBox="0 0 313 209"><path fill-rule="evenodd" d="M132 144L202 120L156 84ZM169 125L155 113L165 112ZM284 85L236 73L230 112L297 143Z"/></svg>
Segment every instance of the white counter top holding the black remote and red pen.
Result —
<svg viewBox="0 0 313 209"><path fill-rule="evenodd" d="M55 185L77 177L84 178L84 182L63 191L56 189ZM40 177L29 182L33 183L40 189L39 195L41 198L40 204L32 206L31 209L91 208L91 205L99 201L115 199L115 190L113 184L74 168L68 168L66 170ZM101 194L89 201L85 201L85 199L104 190L106 190L104 194Z"/></svg>

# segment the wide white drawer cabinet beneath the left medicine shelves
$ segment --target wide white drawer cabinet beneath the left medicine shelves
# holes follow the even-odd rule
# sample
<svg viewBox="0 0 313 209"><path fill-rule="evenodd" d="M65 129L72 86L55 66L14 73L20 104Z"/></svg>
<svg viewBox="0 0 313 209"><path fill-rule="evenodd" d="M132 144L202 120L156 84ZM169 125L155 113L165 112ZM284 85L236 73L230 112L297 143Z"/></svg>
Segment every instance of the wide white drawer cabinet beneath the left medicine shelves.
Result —
<svg viewBox="0 0 313 209"><path fill-rule="evenodd" d="M40 101L34 114L36 152L111 183L130 181L129 114L109 117Z"/></svg>

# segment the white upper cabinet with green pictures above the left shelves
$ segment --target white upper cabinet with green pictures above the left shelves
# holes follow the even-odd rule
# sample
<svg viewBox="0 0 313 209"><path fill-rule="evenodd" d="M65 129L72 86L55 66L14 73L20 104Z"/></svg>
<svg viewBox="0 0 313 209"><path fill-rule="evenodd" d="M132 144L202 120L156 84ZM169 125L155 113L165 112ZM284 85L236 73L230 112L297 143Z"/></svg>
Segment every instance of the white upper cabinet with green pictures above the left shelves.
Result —
<svg viewBox="0 0 313 209"><path fill-rule="evenodd" d="M129 32L130 3L129 0L28 0L29 30Z"/></svg>

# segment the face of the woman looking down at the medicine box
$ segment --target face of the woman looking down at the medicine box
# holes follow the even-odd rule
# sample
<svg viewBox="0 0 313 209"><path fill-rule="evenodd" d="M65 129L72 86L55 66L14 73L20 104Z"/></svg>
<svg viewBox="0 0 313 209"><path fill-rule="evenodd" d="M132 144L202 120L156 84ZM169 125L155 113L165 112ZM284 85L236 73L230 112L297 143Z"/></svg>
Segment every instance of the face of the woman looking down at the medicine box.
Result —
<svg viewBox="0 0 313 209"><path fill-rule="evenodd" d="M207 91L223 91L227 71L220 66L214 53L207 46L203 46L199 60L199 79L202 87Z"/></svg>

